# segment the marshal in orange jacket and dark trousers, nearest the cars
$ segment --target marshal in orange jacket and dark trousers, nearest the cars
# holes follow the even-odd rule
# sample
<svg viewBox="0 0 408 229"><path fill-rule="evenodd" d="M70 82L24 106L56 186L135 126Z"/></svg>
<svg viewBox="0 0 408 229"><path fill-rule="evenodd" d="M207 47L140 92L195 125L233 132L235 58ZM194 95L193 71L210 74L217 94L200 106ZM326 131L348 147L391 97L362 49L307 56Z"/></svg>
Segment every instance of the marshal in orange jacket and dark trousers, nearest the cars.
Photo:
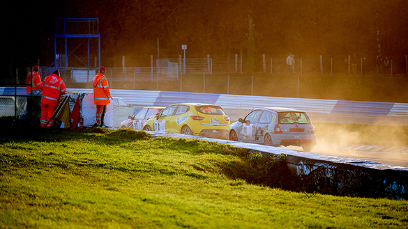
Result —
<svg viewBox="0 0 408 229"><path fill-rule="evenodd" d="M109 104L109 99L112 97L105 73L106 68L101 66L99 72L92 79L93 103L96 105L96 123L93 125L94 127L105 127L106 105Z"/></svg>

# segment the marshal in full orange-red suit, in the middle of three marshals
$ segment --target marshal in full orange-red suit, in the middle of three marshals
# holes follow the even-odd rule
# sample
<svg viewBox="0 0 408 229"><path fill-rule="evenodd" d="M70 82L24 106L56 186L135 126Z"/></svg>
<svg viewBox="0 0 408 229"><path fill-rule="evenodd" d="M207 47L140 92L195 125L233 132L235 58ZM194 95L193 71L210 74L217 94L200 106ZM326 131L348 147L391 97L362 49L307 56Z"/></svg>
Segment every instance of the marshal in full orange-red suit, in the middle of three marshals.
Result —
<svg viewBox="0 0 408 229"><path fill-rule="evenodd" d="M40 125L41 127L50 128L54 123L51 118L58 105L59 96L66 93L66 86L60 77L58 69L45 77L41 86L43 87L43 95L41 96Z"/></svg>

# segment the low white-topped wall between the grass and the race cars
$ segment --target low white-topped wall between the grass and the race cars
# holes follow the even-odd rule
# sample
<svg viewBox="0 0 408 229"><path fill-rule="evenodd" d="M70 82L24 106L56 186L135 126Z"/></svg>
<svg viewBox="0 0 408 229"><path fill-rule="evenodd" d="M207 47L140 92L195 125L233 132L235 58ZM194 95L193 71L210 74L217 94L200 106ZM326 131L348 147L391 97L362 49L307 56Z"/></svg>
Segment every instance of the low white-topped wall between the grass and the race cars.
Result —
<svg viewBox="0 0 408 229"><path fill-rule="evenodd" d="M309 191L338 196L408 198L408 168L406 167L201 136L163 132L149 133L153 137L195 138L225 143L259 152L264 157L284 154L287 157L287 166L307 185Z"/></svg>

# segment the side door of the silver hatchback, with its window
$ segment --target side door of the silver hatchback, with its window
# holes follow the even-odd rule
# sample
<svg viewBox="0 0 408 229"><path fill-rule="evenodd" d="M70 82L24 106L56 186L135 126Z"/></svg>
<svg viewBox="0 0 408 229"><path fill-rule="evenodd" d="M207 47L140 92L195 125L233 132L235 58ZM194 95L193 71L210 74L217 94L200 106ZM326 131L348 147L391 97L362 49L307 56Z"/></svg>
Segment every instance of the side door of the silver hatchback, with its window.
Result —
<svg viewBox="0 0 408 229"><path fill-rule="evenodd" d="M248 113L244 118L244 122L241 123L238 127L239 139L241 141L255 141L256 128L258 125L259 116L261 115L262 110L255 110Z"/></svg>

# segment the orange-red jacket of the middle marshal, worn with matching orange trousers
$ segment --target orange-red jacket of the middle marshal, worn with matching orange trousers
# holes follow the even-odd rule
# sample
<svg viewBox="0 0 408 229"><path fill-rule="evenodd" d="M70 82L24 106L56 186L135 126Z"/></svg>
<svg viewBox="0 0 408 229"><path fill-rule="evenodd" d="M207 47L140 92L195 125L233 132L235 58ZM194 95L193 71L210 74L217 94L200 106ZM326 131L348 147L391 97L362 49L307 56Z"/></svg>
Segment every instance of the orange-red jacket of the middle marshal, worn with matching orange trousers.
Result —
<svg viewBox="0 0 408 229"><path fill-rule="evenodd" d="M43 96L41 103L56 106L58 104L59 95L66 93L66 87L61 77L56 74L50 74L45 77L43 83Z"/></svg>

